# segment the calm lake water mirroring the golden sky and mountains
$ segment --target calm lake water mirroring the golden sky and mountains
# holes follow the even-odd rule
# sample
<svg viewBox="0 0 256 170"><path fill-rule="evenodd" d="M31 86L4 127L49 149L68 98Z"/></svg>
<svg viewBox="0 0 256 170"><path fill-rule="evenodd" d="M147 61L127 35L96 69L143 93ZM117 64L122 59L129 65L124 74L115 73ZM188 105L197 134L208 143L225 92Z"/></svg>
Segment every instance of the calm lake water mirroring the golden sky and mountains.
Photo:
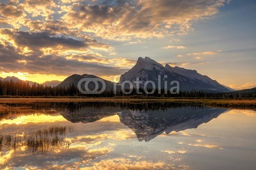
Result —
<svg viewBox="0 0 256 170"><path fill-rule="evenodd" d="M0 107L0 169L256 169L256 112L174 103Z"/></svg>

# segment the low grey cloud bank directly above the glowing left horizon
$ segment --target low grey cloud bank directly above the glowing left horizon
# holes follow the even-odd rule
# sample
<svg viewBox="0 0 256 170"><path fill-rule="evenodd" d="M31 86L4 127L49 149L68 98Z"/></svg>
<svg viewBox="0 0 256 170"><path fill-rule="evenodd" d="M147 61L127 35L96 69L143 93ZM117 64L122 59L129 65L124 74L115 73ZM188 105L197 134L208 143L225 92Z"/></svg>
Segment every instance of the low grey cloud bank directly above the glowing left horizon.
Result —
<svg viewBox="0 0 256 170"><path fill-rule="evenodd" d="M88 56L91 58L91 56ZM71 75L74 73L89 73L98 76L120 75L127 71L112 66L104 66L95 63L86 63L77 60L68 60L63 56L48 55L38 57L37 54L23 56L18 54L13 47L0 46L0 71L3 72L29 72L56 75ZM26 60L19 63L18 60Z"/></svg>

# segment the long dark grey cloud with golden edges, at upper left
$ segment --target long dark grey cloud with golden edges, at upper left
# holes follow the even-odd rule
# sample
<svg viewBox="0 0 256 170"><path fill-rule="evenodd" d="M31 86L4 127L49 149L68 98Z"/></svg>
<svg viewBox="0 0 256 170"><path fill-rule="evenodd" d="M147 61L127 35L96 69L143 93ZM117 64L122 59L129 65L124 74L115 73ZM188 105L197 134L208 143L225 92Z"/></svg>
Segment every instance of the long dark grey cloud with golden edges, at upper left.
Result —
<svg viewBox="0 0 256 170"><path fill-rule="evenodd" d="M89 48L110 49L104 43L90 38L78 38L68 35L56 35L47 32L29 33L28 31L13 31L0 29L0 34L5 36L5 41L13 43L14 47L22 50L31 50L46 54L60 54L67 50L86 52ZM23 53L24 54L24 53Z"/></svg>

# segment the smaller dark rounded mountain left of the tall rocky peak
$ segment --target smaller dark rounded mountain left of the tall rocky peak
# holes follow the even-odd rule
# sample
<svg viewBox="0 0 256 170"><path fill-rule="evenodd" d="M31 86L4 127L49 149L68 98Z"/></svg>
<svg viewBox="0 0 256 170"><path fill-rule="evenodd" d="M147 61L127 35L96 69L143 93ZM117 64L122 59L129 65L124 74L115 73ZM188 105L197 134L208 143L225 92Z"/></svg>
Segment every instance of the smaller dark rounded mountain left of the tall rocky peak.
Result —
<svg viewBox="0 0 256 170"><path fill-rule="evenodd" d="M88 75L88 74L83 74L83 75L78 75L78 74L74 74L74 75L71 75L69 77L67 77L63 82L61 82L57 87L65 87L65 88L68 88L70 85L74 84L75 87L77 87L77 84L78 82L81 80L81 79L84 79L84 78L88 78L88 79L101 79L100 77L97 77L95 75ZM106 84L106 90L111 90L113 89L114 87L114 82L111 82L111 81L106 81L104 79L102 79L105 84ZM83 88L84 87L84 83L83 82L81 84L81 87ZM95 89L95 84L93 82L90 82L88 84L88 88L90 90L93 90ZM99 83L99 89L102 89L102 84Z"/></svg>

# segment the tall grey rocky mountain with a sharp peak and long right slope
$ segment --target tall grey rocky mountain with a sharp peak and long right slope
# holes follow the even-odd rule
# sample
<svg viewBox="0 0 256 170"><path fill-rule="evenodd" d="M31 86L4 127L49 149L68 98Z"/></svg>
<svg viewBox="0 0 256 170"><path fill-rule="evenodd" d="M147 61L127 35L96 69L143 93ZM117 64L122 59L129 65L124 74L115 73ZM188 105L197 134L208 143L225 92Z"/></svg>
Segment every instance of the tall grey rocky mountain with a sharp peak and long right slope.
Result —
<svg viewBox="0 0 256 170"><path fill-rule="evenodd" d="M161 80L158 80L159 75L161 75ZM164 79L164 76L167 76L167 78ZM124 81L134 83L137 77L142 81L140 87L143 87L146 81L153 81L156 84L156 88L158 87L158 83L161 82L160 87L163 89L164 81L166 81L167 89L170 89L173 86L177 86L177 84L171 85L170 82L179 81L180 91L197 90L212 93L230 91L230 89L225 88L225 86L222 86L206 75L201 75L196 72L196 70L187 70L177 66L173 68L170 65L163 66L148 57L139 58L136 65L134 65L131 70L121 75L120 83ZM147 87L151 88L150 86Z"/></svg>

